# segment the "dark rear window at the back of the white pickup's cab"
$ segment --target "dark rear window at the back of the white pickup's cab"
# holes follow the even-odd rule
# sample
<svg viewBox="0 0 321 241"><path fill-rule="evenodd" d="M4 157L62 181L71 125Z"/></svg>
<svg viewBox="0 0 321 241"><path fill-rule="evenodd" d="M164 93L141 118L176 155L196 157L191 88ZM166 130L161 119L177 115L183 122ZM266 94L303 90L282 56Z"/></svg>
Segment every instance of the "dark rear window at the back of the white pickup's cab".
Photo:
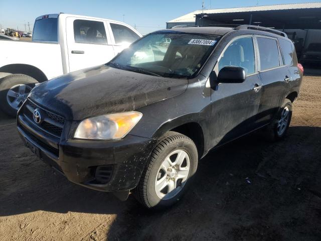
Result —
<svg viewBox="0 0 321 241"><path fill-rule="evenodd" d="M58 42L58 18L36 20L32 40Z"/></svg>

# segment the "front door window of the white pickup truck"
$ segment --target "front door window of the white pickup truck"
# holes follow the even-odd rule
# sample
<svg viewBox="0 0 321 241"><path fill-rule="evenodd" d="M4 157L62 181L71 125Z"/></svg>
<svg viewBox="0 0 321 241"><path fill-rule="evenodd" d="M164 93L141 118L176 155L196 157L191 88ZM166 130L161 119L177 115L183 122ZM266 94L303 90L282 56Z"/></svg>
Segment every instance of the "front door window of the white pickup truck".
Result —
<svg viewBox="0 0 321 241"><path fill-rule="evenodd" d="M131 29L119 24L110 24L117 45L131 44L140 37Z"/></svg>

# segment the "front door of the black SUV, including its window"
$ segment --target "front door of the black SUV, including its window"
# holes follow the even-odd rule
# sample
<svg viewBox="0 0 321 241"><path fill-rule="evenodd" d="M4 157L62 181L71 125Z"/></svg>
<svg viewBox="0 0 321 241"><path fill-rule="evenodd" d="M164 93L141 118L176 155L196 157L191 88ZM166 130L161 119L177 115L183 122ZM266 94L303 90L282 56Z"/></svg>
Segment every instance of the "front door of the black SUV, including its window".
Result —
<svg viewBox="0 0 321 241"><path fill-rule="evenodd" d="M234 38L223 50L214 67L216 74L225 66L245 69L243 83L219 83L211 94L212 147L229 142L256 128L255 117L262 83L257 68L257 52L251 35Z"/></svg>

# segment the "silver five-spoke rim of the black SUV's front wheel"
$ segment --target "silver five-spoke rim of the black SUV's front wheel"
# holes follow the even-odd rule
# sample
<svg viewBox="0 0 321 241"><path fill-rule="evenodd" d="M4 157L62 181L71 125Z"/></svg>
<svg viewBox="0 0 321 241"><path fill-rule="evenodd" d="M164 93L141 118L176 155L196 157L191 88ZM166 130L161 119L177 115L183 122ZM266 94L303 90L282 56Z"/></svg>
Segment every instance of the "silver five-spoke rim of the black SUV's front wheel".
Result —
<svg viewBox="0 0 321 241"><path fill-rule="evenodd" d="M190 157L184 150L171 152L162 162L155 178L158 198L168 200L180 193L190 173Z"/></svg>

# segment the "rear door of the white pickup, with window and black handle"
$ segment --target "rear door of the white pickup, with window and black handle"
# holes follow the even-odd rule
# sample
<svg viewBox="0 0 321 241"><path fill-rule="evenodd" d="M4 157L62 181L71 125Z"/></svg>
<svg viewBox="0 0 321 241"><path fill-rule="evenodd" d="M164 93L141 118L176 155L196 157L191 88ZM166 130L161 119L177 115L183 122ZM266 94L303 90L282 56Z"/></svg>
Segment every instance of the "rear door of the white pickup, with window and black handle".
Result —
<svg viewBox="0 0 321 241"><path fill-rule="evenodd" d="M105 21L68 17L66 25L70 72L107 63L115 56Z"/></svg>

